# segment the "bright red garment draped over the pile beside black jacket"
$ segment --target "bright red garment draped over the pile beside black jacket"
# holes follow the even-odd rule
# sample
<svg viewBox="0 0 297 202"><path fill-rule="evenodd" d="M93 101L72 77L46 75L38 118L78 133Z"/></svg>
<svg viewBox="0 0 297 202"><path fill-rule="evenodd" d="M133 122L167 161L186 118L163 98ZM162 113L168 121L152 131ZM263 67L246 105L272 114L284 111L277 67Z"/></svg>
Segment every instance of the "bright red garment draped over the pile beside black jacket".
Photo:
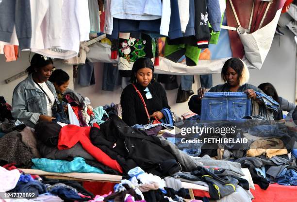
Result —
<svg viewBox="0 0 297 202"><path fill-rule="evenodd" d="M62 127L59 134L58 149L66 150L72 148L76 143L80 142L83 149L91 154L100 163L123 173L120 165L106 153L95 147L90 140L91 127L79 127L76 125L67 125Z"/></svg>

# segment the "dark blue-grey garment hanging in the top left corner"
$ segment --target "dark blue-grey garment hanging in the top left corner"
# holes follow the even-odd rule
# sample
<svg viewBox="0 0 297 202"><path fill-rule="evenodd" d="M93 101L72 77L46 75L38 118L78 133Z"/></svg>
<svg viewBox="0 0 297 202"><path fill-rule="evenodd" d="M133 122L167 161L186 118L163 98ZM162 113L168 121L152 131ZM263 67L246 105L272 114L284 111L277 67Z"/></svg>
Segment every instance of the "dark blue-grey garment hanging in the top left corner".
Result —
<svg viewBox="0 0 297 202"><path fill-rule="evenodd" d="M15 25L19 48L30 48L30 0L2 0L0 3L0 41L10 42Z"/></svg>

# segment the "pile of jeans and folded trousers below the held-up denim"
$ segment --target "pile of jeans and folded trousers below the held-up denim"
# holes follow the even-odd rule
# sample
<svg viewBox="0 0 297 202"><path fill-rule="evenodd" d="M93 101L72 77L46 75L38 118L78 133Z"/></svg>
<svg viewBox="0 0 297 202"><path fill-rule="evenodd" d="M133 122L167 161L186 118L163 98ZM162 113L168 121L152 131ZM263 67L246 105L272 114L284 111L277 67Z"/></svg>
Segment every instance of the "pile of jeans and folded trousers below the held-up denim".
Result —
<svg viewBox="0 0 297 202"><path fill-rule="evenodd" d="M262 189L269 184L297 185L296 166L296 138L297 128L292 122L275 122L265 120L260 116L249 116L234 121L200 122L197 120L183 120L178 127L226 128L234 127L235 133L203 133L187 134L191 138L232 138L246 139L246 143L212 143L189 144L182 143L181 136L175 139L176 146L203 160L207 155L225 160L223 162L237 162L242 168L248 168L253 182ZM176 125L178 125L176 124ZM295 146L294 146L295 145ZM199 156L203 156L199 158ZM204 163L204 162L202 162ZM218 165L218 164L217 164Z"/></svg>

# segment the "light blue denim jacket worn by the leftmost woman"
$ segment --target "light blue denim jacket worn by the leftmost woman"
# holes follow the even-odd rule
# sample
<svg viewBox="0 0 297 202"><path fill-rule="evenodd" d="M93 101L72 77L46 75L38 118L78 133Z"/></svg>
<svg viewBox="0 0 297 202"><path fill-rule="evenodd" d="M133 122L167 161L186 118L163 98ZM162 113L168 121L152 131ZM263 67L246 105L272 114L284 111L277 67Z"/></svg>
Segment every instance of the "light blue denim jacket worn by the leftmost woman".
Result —
<svg viewBox="0 0 297 202"><path fill-rule="evenodd" d="M59 103L54 85L49 81L46 84L54 94L56 102ZM48 115L46 95L35 86L32 74L16 85L11 113L15 119L30 127L34 127L40 115Z"/></svg>

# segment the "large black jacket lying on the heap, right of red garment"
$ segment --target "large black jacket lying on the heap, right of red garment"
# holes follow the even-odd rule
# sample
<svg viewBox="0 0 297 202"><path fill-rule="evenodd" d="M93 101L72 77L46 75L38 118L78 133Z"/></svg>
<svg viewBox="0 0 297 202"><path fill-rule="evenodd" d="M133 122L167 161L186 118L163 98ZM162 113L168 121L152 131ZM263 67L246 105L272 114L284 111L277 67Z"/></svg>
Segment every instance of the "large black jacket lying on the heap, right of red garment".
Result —
<svg viewBox="0 0 297 202"><path fill-rule="evenodd" d="M139 166L148 173L165 176L181 170L175 156L167 152L156 136L147 136L138 129L127 126L116 115L92 128L91 142L115 159L124 172Z"/></svg>

